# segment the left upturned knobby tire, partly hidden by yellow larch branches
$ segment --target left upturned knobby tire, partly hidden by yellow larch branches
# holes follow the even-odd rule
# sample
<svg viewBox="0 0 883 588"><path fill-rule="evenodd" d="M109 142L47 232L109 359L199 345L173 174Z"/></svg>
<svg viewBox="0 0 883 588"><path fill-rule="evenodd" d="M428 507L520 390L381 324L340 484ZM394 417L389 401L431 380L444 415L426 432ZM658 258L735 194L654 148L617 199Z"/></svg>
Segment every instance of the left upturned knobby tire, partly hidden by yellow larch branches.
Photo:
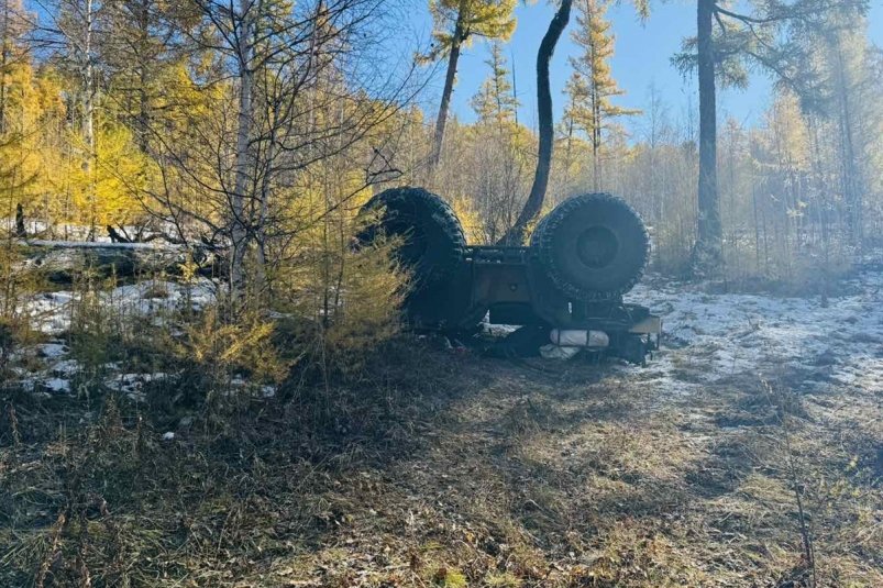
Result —
<svg viewBox="0 0 883 588"><path fill-rule="evenodd" d="M399 263L412 273L416 290L450 278L463 262L466 236L453 209L422 188L393 188L378 193L360 214L379 214L358 235L361 243L377 236L402 241Z"/></svg>

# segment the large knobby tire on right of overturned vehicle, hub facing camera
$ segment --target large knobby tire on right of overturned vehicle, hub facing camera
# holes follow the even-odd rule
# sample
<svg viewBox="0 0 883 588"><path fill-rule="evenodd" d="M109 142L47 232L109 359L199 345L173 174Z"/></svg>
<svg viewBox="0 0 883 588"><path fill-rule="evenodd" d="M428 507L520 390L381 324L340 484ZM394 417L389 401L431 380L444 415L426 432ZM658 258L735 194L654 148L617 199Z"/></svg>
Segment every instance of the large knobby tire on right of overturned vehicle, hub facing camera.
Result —
<svg viewBox="0 0 883 588"><path fill-rule="evenodd" d="M628 292L650 258L643 221L608 193L561 203L537 225L530 247L555 288L574 300L610 300Z"/></svg>

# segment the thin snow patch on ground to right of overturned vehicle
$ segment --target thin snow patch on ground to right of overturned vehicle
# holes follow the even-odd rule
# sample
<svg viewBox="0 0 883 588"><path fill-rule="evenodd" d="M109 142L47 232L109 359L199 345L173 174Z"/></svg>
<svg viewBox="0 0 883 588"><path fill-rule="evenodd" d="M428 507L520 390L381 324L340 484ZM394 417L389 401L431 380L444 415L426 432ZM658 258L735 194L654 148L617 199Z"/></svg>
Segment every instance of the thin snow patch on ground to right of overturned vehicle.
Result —
<svg viewBox="0 0 883 588"><path fill-rule="evenodd" d="M883 273L865 271L848 296L711 295L693 285L642 284L629 301L664 319L649 380L684 390L735 376L787 379L806 391L851 386L883 392Z"/></svg>

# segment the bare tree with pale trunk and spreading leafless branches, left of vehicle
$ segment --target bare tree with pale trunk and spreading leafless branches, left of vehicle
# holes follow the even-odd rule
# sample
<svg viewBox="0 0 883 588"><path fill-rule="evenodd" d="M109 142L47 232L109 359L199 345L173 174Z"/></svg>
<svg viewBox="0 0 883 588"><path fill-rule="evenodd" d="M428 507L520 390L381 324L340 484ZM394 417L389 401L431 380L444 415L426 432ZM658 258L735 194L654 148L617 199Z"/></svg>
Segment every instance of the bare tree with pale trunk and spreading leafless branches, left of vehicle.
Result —
<svg viewBox="0 0 883 588"><path fill-rule="evenodd" d="M387 14L385 4L199 0L202 29L192 41L213 59L203 86L207 93L222 89L218 115L201 121L200 132L212 142L195 136L189 152L166 148L179 177L211 201L211 213L197 222L229 252L234 298L246 287L269 292L264 279L269 241L290 242L306 231L295 223L323 225L329 209L342 208L329 201L311 223L291 218L298 212L295 200L310 191L309 173L363 141L410 99L406 86L413 64L400 76L365 67L367 53L380 51L369 31ZM375 176L363 177L364 188Z"/></svg>

